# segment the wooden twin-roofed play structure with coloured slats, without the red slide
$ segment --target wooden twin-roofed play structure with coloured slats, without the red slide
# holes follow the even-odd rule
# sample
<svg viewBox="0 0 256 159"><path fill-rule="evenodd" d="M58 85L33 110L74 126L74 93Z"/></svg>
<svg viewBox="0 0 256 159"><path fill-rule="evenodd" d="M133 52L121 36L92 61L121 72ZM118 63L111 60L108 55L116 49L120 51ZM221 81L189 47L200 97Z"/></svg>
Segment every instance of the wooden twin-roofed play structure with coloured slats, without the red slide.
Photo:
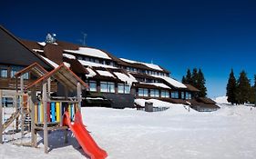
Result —
<svg viewBox="0 0 256 159"><path fill-rule="evenodd" d="M37 79L28 85L24 85L26 73L33 74ZM67 66L59 65L51 72L47 72L38 64L29 65L25 69L15 74L15 94L13 94L13 113L5 120L2 105L2 99L5 97L0 90L0 143L3 144L3 133L10 126L15 125L13 132L21 133L21 141L25 132L31 133L29 143L20 143L22 145L37 145L37 133L44 132L45 153L48 153L48 132L55 130L64 130L65 142L67 142L67 125L62 125L62 116L68 112L70 120L74 121L76 112L80 112L83 89L87 88L77 75L75 75ZM19 83L18 83L19 81ZM63 87L63 96L53 95L55 91L52 85ZM71 97L68 94L76 94ZM29 124L27 124L26 118ZM28 126L29 125L29 126ZM26 130L26 126L27 128ZM14 126L13 126L14 127Z"/></svg>

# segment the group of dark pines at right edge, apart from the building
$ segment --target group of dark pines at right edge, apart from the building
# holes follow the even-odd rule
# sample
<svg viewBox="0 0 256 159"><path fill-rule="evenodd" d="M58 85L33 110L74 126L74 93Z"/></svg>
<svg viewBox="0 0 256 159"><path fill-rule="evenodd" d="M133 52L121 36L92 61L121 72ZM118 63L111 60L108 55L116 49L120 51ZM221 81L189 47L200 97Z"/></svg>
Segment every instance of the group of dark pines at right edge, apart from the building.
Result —
<svg viewBox="0 0 256 159"><path fill-rule="evenodd" d="M231 69L230 77L226 87L228 102L231 104L255 103L256 75L254 75L254 84L251 86L251 80L248 79L244 70L236 79L233 69Z"/></svg>

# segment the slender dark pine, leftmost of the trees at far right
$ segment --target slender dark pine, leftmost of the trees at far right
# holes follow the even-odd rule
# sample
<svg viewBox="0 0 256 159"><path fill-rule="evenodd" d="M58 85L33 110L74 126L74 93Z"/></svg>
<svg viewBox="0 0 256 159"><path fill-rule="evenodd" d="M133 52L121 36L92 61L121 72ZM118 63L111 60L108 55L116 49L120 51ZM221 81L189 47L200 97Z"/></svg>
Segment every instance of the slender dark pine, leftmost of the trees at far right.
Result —
<svg viewBox="0 0 256 159"><path fill-rule="evenodd" d="M235 78L233 69L231 69L230 78L226 87L226 90L227 90L226 95L228 96L228 102L230 102L231 104L236 103L236 87L237 87L236 78Z"/></svg>

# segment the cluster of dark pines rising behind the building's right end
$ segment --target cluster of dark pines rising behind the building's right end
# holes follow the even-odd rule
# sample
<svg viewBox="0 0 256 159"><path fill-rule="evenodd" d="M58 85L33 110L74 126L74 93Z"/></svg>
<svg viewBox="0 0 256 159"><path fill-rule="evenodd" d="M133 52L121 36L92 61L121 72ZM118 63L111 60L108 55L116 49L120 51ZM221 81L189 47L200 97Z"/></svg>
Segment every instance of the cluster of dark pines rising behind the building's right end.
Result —
<svg viewBox="0 0 256 159"><path fill-rule="evenodd" d="M205 97L207 95L207 88L205 86L205 78L201 71L201 69L194 68L192 73L190 69L187 71L186 76L182 76L182 83L183 84L190 84L200 90L200 92L196 93L195 95L198 97Z"/></svg>

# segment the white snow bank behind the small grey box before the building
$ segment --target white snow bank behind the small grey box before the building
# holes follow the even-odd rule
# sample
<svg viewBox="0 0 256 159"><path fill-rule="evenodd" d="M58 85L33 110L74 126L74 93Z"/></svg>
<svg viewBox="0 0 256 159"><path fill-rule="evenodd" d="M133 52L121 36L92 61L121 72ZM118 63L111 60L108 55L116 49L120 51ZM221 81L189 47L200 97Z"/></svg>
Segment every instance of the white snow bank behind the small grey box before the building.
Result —
<svg viewBox="0 0 256 159"><path fill-rule="evenodd" d="M164 101L160 101L158 99L141 99L141 98L138 98L138 99L135 99L134 100L134 103L140 105L140 106L145 106L145 102L150 102L150 103L153 103L153 106L155 107L170 107L172 106L173 104L170 104L169 102L164 102Z"/></svg>

